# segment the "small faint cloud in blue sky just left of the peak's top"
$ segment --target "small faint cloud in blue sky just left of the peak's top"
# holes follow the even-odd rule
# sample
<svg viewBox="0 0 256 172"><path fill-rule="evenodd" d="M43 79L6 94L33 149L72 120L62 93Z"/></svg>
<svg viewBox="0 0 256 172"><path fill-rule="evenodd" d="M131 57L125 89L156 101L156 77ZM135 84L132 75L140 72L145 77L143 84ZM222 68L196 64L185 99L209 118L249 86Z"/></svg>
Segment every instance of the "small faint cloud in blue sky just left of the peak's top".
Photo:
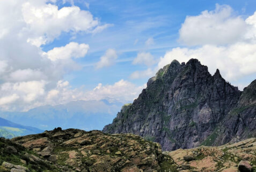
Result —
<svg viewBox="0 0 256 172"><path fill-rule="evenodd" d="M133 64L144 64L151 66L156 63L156 60L150 52L140 52L137 54L137 57L133 60Z"/></svg>

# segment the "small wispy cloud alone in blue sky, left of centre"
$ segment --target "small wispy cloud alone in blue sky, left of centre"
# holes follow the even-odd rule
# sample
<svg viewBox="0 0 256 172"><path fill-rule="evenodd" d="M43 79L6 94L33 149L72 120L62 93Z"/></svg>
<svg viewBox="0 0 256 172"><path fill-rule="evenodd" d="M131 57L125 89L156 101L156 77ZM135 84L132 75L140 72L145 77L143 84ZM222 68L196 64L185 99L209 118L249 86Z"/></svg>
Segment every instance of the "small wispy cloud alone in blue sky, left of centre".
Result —
<svg viewBox="0 0 256 172"><path fill-rule="evenodd" d="M100 61L97 62L96 68L103 68L112 66L115 63L115 60L118 58L118 55L116 54L116 51L114 49L108 49L104 56L100 57Z"/></svg>

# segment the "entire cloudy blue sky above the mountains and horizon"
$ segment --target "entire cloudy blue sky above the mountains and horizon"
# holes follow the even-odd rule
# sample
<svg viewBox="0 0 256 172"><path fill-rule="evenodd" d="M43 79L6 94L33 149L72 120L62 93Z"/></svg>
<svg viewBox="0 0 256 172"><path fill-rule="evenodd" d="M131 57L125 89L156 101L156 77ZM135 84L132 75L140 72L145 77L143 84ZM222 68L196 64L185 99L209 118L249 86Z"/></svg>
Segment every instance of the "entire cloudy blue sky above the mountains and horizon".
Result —
<svg viewBox="0 0 256 172"><path fill-rule="evenodd" d="M243 90L256 78L255 1L0 2L0 108L128 103L173 59Z"/></svg>

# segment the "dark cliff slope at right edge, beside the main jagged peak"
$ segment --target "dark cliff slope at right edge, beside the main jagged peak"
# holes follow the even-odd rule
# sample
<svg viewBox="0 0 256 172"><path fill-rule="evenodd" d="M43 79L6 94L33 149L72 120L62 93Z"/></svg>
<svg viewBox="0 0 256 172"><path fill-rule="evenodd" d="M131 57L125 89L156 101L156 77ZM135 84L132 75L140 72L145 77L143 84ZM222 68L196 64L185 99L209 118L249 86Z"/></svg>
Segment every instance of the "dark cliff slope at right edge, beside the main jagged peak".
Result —
<svg viewBox="0 0 256 172"><path fill-rule="evenodd" d="M244 88L235 108L223 120L214 145L256 136L256 80Z"/></svg>

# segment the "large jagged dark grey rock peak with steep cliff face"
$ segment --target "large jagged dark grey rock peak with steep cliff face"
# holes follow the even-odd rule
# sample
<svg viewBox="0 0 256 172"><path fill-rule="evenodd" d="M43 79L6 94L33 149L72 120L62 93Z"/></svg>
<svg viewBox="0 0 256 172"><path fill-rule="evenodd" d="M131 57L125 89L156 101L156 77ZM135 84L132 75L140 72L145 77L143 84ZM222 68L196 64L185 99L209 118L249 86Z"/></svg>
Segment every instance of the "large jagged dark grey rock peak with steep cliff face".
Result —
<svg viewBox="0 0 256 172"><path fill-rule="evenodd" d="M149 79L133 104L123 106L103 131L140 135L169 151L236 142L233 138L237 136L249 137L246 130L255 131L255 97L250 98L255 84L242 93L226 82L218 69L211 76L197 59L187 64L173 60ZM242 107L239 115L231 115Z"/></svg>

